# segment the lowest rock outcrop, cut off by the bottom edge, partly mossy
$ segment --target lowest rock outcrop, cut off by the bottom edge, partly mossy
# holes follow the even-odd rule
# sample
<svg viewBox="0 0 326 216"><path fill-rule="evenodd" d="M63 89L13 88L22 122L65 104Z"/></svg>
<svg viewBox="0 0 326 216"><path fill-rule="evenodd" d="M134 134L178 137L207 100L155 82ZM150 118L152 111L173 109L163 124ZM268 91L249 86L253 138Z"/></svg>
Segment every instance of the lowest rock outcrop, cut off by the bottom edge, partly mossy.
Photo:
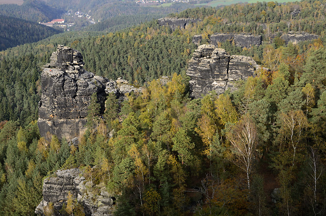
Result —
<svg viewBox="0 0 326 216"><path fill-rule="evenodd" d="M36 207L35 213L45 215L50 210L54 215L61 215L63 204L68 199L68 192L82 204L85 215L113 215L115 198L110 196L103 185L93 186L86 181L77 168L58 170L43 182L43 199Z"/></svg>

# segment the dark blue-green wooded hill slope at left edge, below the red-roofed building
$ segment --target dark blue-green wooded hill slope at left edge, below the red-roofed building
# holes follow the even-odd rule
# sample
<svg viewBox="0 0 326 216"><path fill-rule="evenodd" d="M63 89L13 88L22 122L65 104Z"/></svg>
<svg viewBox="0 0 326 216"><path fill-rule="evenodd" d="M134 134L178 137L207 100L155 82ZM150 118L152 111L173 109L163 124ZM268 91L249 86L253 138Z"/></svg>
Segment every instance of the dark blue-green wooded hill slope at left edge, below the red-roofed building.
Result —
<svg viewBox="0 0 326 216"><path fill-rule="evenodd" d="M61 33L60 30L33 22L0 16L0 51L33 43Z"/></svg>

